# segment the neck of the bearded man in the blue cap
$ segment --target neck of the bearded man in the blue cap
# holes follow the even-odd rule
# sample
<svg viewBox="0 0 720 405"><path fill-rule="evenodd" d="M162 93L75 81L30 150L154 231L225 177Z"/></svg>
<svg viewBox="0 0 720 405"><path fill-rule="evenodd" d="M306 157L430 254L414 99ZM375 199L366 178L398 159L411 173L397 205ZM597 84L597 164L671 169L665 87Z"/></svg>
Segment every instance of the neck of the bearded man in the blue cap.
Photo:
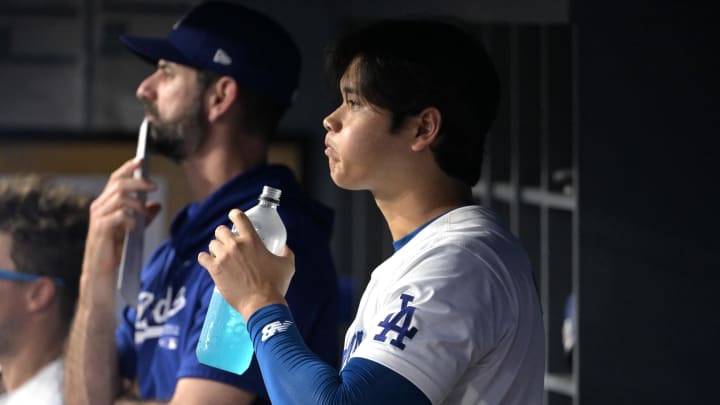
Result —
<svg viewBox="0 0 720 405"><path fill-rule="evenodd" d="M202 201L223 184L267 162L262 137L223 131L208 136L202 148L182 163L196 201Z"/></svg>

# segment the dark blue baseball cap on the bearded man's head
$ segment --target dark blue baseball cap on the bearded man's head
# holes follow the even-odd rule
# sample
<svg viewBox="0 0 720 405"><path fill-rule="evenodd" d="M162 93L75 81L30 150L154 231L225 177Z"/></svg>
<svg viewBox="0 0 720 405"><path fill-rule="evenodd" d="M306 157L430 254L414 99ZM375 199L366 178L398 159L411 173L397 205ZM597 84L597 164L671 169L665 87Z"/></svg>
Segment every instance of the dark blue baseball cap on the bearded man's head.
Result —
<svg viewBox="0 0 720 405"><path fill-rule="evenodd" d="M293 101L301 57L290 34L269 17L222 1L202 3L165 38L129 35L120 40L142 59L165 59L234 78L281 105Z"/></svg>

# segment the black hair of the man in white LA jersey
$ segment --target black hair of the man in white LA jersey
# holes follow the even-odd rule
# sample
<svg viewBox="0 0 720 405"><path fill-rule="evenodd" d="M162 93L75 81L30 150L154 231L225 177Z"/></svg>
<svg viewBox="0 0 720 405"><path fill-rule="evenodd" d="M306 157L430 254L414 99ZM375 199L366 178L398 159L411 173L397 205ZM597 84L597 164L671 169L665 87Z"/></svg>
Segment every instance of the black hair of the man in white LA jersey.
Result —
<svg viewBox="0 0 720 405"><path fill-rule="evenodd" d="M440 111L435 161L449 176L475 185L500 99L482 44L456 21L386 20L344 36L330 50L327 68L336 84L355 59L359 95L392 114L393 131L424 108Z"/></svg>

